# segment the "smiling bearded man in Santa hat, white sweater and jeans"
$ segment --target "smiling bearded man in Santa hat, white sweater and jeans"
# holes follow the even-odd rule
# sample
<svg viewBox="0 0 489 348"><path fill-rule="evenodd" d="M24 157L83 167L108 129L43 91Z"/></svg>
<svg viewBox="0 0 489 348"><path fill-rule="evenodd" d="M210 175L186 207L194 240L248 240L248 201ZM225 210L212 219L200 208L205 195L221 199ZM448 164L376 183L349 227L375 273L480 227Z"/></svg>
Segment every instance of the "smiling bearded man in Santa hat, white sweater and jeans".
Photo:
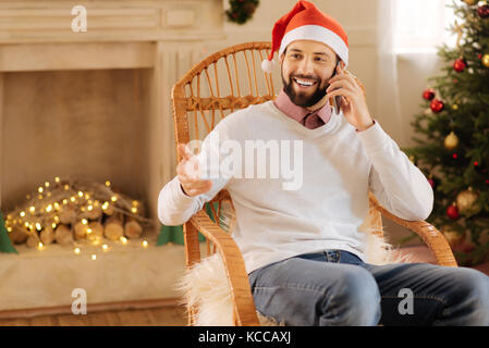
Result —
<svg viewBox="0 0 489 348"><path fill-rule="evenodd" d="M159 196L162 223L186 222L227 188L237 219L233 237L256 308L286 325L489 325L485 274L428 263L366 262L360 225L368 213L368 190L386 209L413 221L430 214L433 192L374 121L362 89L345 73L347 37L340 24L298 1L273 28L265 70L276 50L283 90L276 101L222 120L201 154L179 148L183 160L178 175ZM338 113L330 98L341 103ZM216 154L210 140L216 135L217 146L228 140L241 146L250 140L301 141L301 185L284 189L283 175L243 178L235 169L233 175L206 178L203 167ZM290 152L280 159L286 162ZM412 303L403 307L405 296Z"/></svg>

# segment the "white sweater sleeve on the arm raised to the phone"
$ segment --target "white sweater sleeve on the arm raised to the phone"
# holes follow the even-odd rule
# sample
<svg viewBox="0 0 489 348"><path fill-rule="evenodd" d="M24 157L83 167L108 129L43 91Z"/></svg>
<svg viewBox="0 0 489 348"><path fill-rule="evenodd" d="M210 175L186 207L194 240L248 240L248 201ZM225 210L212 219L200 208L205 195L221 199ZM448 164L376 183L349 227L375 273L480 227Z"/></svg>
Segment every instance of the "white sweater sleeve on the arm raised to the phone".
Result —
<svg viewBox="0 0 489 348"><path fill-rule="evenodd" d="M369 186L380 204L401 219L426 220L432 210L433 190L421 171L378 121L358 136L372 162Z"/></svg>

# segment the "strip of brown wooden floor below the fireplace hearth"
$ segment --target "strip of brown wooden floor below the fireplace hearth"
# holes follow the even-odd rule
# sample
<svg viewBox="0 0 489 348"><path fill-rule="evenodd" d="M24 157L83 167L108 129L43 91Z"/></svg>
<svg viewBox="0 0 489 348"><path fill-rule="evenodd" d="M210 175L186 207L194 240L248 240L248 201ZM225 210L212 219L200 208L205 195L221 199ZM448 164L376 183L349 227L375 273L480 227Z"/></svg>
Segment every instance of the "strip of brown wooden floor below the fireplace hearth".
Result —
<svg viewBox="0 0 489 348"><path fill-rule="evenodd" d="M88 312L85 315L57 314L0 319L0 326L185 326L186 324L185 312L181 307Z"/></svg>

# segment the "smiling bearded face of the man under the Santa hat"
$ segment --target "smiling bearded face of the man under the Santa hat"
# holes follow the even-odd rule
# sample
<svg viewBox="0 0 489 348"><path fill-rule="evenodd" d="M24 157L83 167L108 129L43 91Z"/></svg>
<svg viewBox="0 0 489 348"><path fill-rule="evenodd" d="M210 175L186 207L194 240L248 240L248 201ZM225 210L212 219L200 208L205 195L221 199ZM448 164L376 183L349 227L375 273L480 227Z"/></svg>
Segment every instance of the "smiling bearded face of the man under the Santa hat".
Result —
<svg viewBox="0 0 489 348"><path fill-rule="evenodd" d="M293 41L280 58L285 94L296 105L307 108L326 95L337 54L327 45L311 41Z"/></svg>

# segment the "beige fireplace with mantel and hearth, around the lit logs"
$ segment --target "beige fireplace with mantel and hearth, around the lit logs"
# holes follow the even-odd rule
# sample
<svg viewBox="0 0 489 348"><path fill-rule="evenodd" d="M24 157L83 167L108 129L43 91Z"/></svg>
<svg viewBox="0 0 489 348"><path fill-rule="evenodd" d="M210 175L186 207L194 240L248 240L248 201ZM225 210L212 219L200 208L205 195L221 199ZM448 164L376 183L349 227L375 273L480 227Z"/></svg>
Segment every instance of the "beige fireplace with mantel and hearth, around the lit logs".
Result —
<svg viewBox="0 0 489 348"><path fill-rule="evenodd" d="M224 38L222 1L90 1L85 4L87 30L74 33L71 10L77 4L0 2L1 210L22 204L26 195L54 177L110 181L146 206L155 226L146 233L156 235L158 194L175 165L171 87L208 54L211 40ZM172 286L184 268L183 248L158 248L137 258L131 252L140 248L129 248L98 257L97 263L72 250L57 251L56 258L63 258L66 268L72 264L71 270L57 269L60 259L42 258L35 250L24 257L0 254L9 265L3 268L7 274L0 269L0 293L7 294L0 311L70 304L69 289L81 279L91 284L86 285L94 289L88 298L96 303L175 297ZM127 263L134 259L140 262ZM114 262L142 275L157 272L149 270L152 264L172 262L175 268L139 287L127 275L111 273L110 285L103 283L110 289L103 293L94 279L106 279L109 269L119 272ZM27 281L28 270L36 268L58 273ZM26 282L30 286L19 293ZM60 288L53 288L57 282ZM130 285L118 291L118 284Z"/></svg>

